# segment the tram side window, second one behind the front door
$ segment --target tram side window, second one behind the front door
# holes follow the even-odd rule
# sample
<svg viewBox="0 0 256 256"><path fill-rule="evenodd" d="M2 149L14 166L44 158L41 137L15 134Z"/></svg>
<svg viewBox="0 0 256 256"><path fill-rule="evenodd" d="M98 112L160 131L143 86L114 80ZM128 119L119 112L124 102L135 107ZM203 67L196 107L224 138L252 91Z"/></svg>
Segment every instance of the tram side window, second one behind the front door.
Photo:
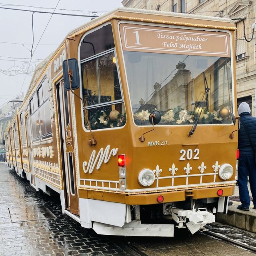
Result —
<svg viewBox="0 0 256 256"><path fill-rule="evenodd" d="M38 106L37 106L37 95L34 94L33 98L29 102L30 106L30 115L31 115L31 128L32 128L32 138L33 141L39 140L39 115L38 115Z"/></svg>

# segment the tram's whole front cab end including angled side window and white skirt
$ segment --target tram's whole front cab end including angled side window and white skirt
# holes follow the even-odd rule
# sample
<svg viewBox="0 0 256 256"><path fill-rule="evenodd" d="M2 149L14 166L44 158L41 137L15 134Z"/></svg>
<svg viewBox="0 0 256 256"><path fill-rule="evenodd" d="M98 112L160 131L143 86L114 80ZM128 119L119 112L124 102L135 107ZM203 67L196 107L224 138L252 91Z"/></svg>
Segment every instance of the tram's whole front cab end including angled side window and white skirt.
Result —
<svg viewBox="0 0 256 256"><path fill-rule="evenodd" d="M234 194L235 28L128 10L80 41L80 221L99 234L193 234Z"/></svg>

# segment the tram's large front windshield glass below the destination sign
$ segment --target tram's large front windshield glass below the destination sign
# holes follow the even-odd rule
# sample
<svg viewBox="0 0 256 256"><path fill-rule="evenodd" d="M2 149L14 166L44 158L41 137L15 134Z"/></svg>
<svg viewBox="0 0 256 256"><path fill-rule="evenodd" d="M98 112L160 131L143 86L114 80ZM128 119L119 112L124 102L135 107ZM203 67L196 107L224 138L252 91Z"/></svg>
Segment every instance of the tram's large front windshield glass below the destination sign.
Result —
<svg viewBox="0 0 256 256"><path fill-rule="evenodd" d="M230 58L124 51L132 112L136 125L149 125L154 110L158 125L230 124ZM206 96L206 90L208 96Z"/></svg>

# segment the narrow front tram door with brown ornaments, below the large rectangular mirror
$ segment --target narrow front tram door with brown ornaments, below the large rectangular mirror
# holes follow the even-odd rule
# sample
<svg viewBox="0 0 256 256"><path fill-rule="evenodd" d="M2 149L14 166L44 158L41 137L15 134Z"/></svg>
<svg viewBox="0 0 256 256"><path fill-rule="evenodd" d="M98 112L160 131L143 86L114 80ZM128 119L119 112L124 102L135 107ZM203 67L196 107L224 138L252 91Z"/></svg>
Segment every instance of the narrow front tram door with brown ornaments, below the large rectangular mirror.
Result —
<svg viewBox="0 0 256 256"><path fill-rule="evenodd" d="M63 80L56 87L60 126L60 142L62 143L62 170L65 190L66 210L79 215L78 191L76 188L76 172L74 169L74 145L69 93L64 90Z"/></svg>

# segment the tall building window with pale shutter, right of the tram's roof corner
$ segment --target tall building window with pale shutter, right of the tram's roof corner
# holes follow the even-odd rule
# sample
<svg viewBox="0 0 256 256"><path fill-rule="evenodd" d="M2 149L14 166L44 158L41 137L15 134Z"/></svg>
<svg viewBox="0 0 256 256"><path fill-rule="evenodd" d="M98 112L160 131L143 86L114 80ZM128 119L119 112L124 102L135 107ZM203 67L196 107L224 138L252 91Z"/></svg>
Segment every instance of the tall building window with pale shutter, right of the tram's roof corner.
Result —
<svg viewBox="0 0 256 256"><path fill-rule="evenodd" d="M244 19L246 24L246 19ZM244 39L244 24L241 21L236 23L236 60L245 57L246 41Z"/></svg>

